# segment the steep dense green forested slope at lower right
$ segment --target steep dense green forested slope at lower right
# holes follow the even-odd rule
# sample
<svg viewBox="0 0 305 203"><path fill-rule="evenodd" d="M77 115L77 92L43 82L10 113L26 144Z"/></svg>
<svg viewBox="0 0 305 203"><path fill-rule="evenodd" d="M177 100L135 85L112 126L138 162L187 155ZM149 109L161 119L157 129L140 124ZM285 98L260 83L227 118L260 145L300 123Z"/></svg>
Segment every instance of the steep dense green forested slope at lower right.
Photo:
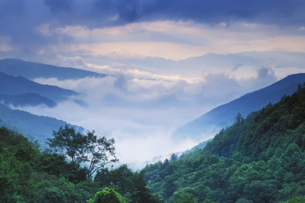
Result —
<svg viewBox="0 0 305 203"><path fill-rule="evenodd" d="M236 112L237 114L237 112ZM145 167L168 202L305 202L305 87L222 129L204 149Z"/></svg>

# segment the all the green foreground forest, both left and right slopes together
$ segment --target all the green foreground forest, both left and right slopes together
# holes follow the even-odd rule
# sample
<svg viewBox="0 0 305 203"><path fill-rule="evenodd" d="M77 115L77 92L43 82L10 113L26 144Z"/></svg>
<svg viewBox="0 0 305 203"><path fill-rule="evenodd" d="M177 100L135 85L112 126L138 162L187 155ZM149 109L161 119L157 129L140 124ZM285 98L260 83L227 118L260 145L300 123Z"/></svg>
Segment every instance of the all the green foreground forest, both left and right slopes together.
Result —
<svg viewBox="0 0 305 203"><path fill-rule="evenodd" d="M305 86L141 171L111 167L115 142L94 131L46 144L0 128L0 202L305 202Z"/></svg>

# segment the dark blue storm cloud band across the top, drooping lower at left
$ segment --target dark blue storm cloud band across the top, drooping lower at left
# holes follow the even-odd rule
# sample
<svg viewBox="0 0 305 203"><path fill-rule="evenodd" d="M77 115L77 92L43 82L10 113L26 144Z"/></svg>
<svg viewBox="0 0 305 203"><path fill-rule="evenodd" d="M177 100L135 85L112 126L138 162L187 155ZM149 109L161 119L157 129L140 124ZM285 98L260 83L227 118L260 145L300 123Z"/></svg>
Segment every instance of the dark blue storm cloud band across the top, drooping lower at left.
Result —
<svg viewBox="0 0 305 203"><path fill-rule="evenodd" d="M43 24L52 30L66 25L95 28L190 19L209 25L225 22L229 26L243 21L304 26L304 10L303 0L2 0L0 37L10 37L11 45L21 47L23 54L31 54L48 44L70 40L56 33L41 35L37 28Z"/></svg>

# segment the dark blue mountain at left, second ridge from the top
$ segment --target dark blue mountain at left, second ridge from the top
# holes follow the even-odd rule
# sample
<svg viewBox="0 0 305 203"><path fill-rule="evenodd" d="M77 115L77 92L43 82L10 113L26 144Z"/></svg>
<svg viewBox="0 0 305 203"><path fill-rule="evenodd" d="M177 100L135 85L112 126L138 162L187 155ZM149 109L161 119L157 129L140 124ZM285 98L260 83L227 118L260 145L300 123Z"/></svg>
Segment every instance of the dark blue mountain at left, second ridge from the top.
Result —
<svg viewBox="0 0 305 203"><path fill-rule="evenodd" d="M12 76L0 72L0 94L14 95L37 93L56 102L78 93L52 85L42 85L22 76Z"/></svg>

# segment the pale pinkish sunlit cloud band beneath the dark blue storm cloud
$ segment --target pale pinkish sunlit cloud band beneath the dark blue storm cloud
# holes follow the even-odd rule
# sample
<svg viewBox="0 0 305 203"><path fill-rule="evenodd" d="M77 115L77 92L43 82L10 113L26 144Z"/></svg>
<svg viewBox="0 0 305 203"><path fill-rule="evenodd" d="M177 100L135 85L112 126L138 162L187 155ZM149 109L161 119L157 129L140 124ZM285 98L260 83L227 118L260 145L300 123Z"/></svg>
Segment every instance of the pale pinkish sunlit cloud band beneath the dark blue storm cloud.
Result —
<svg viewBox="0 0 305 203"><path fill-rule="evenodd" d="M38 28L43 35L66 35L69 43L59 40L56 51L75 52L99 57L114 54L125 58L162 57L181 60L207 53L227 54L242 51L305 51L305 36L277 26L258 23L234 23L209 26L193 21L154 21L123 26L94 28L59 27L50 33L48 25ZM62 37L65 39L65 37ZM60 39L60 37L59 37Z"/></svg>

